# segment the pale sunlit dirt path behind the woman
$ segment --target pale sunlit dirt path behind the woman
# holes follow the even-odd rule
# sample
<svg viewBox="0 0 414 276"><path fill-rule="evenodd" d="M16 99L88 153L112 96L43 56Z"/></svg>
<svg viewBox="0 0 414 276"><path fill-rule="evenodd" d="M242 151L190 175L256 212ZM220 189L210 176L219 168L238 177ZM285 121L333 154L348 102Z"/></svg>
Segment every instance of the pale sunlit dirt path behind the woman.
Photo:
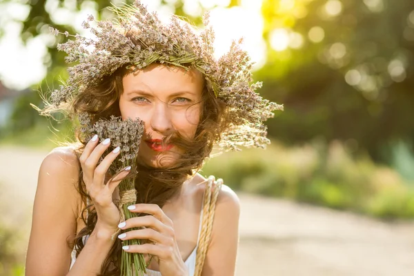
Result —
<svg viewBox="0 0 414 276"><path fill-rule="evenodd" d="M0 181L6 186L1 198L21 206L8 212L14 218L26 217L19 224L25 248L37 172L46 154L0 147ZM414 222L389 224L352 213L237 194L242 202L237 276L414 275Z"/></svg>

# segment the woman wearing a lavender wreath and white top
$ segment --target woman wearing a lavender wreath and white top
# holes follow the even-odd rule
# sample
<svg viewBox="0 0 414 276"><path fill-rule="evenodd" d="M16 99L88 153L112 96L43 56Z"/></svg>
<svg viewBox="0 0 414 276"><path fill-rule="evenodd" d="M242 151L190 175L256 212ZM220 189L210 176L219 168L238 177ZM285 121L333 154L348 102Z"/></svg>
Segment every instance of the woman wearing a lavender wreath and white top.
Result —
<svg viewBox="0 0 414 276"><path fill-rule="evenodd" d="M121 250L155 256L148 275L195 275L208 182L197 171L213 145L264 146L262 121L282 108L248 84L251 63L236 43L217 61L210 28L197 32L175 17L166 25L139 2L116 11L116 27L84 23L95 41L77 36L59 46L79 63L41 113L144 121L130 211L148 216L120 221L117 186L130 168L109 175L119 148L103 155L109 139L77 132L77 144L52 150L41 164L26 275L119 275ZM221 179L213 183L221 186ZM201 275L235 274L239 208L237 195L222 185ZM110 238L138 226L145 228ZM126 239L150 242L122 247Z"/></svg>

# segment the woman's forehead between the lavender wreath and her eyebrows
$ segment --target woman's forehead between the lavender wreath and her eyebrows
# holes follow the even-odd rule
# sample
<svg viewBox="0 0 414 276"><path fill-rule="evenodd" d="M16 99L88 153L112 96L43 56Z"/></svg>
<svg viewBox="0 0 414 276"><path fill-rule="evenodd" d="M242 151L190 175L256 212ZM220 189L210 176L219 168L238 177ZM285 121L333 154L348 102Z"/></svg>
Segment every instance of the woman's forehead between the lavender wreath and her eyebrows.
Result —
<svg viewBox="0 0 414 276"><path fill-rule="evenodd" d="M130 72L122 79L124 92L137 88L148 92L180 92L200 93L204 86L204 77L196 69L186 71L176 66L164 66L153 63L144 69Z"/></svg>

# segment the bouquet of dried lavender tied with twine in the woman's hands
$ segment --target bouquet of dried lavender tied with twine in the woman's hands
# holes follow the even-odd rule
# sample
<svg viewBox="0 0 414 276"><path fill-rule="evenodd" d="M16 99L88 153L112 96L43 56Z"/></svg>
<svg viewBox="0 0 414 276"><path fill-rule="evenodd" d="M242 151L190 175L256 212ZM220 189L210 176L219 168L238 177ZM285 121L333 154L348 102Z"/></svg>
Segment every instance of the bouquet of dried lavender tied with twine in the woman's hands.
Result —
<svg viewBox="0 0 414 276"><path fill-rule="evenodd" d="M135 159L137 158L139 144L144 132L144 123L140 119L126 119L122 120L121 117L111 116L109 120L99 119L92 125L90 116L86 113L79 115L79 123L81 124L81 132L87 137L96 133L100 140L110 138L111 146L105 152L108 154L114 148L119 146L121 152L119 157L112 162L109 168L110 175L115 175L119 170L127 166L131 166L130 177L124 179L119 184L119 214L121 215L121 221L130 219L131 217L137 217L138 213L131 213L127 207L131 204L135 204L137 201L137 191L135 190ZM106 154L102 155L101 161ZM127 229L137 230L138 228ZM112 239L115 239L116 235L120 232L112 235ZM123 245L141 244L139 239L130 239L123 241ZM127 253L122 250L121 256L121 275L135 275L141 272L146 273L146 263L144 261L144 255L140 253Z"/></svg>

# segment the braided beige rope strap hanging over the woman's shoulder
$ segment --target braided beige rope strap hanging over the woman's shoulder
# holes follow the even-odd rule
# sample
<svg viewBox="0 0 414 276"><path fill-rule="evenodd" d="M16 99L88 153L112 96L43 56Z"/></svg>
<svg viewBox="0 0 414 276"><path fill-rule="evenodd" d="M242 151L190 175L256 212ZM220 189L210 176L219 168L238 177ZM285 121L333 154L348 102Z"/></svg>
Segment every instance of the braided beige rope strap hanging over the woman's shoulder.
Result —
<svg viewBox="0 0 414 276"><path fill-rule="evenodd" d="M223 179L217 179L217 181L215 181L215 177L208 177L207 187L204 193L203 221L201 222L201 233L196 253L197 257L195 260L194 276L200 276L201 271L203 270L204 259L206 259L208 245L210 244L211 230L213 228L215 204L222 184Z"/></svg>

